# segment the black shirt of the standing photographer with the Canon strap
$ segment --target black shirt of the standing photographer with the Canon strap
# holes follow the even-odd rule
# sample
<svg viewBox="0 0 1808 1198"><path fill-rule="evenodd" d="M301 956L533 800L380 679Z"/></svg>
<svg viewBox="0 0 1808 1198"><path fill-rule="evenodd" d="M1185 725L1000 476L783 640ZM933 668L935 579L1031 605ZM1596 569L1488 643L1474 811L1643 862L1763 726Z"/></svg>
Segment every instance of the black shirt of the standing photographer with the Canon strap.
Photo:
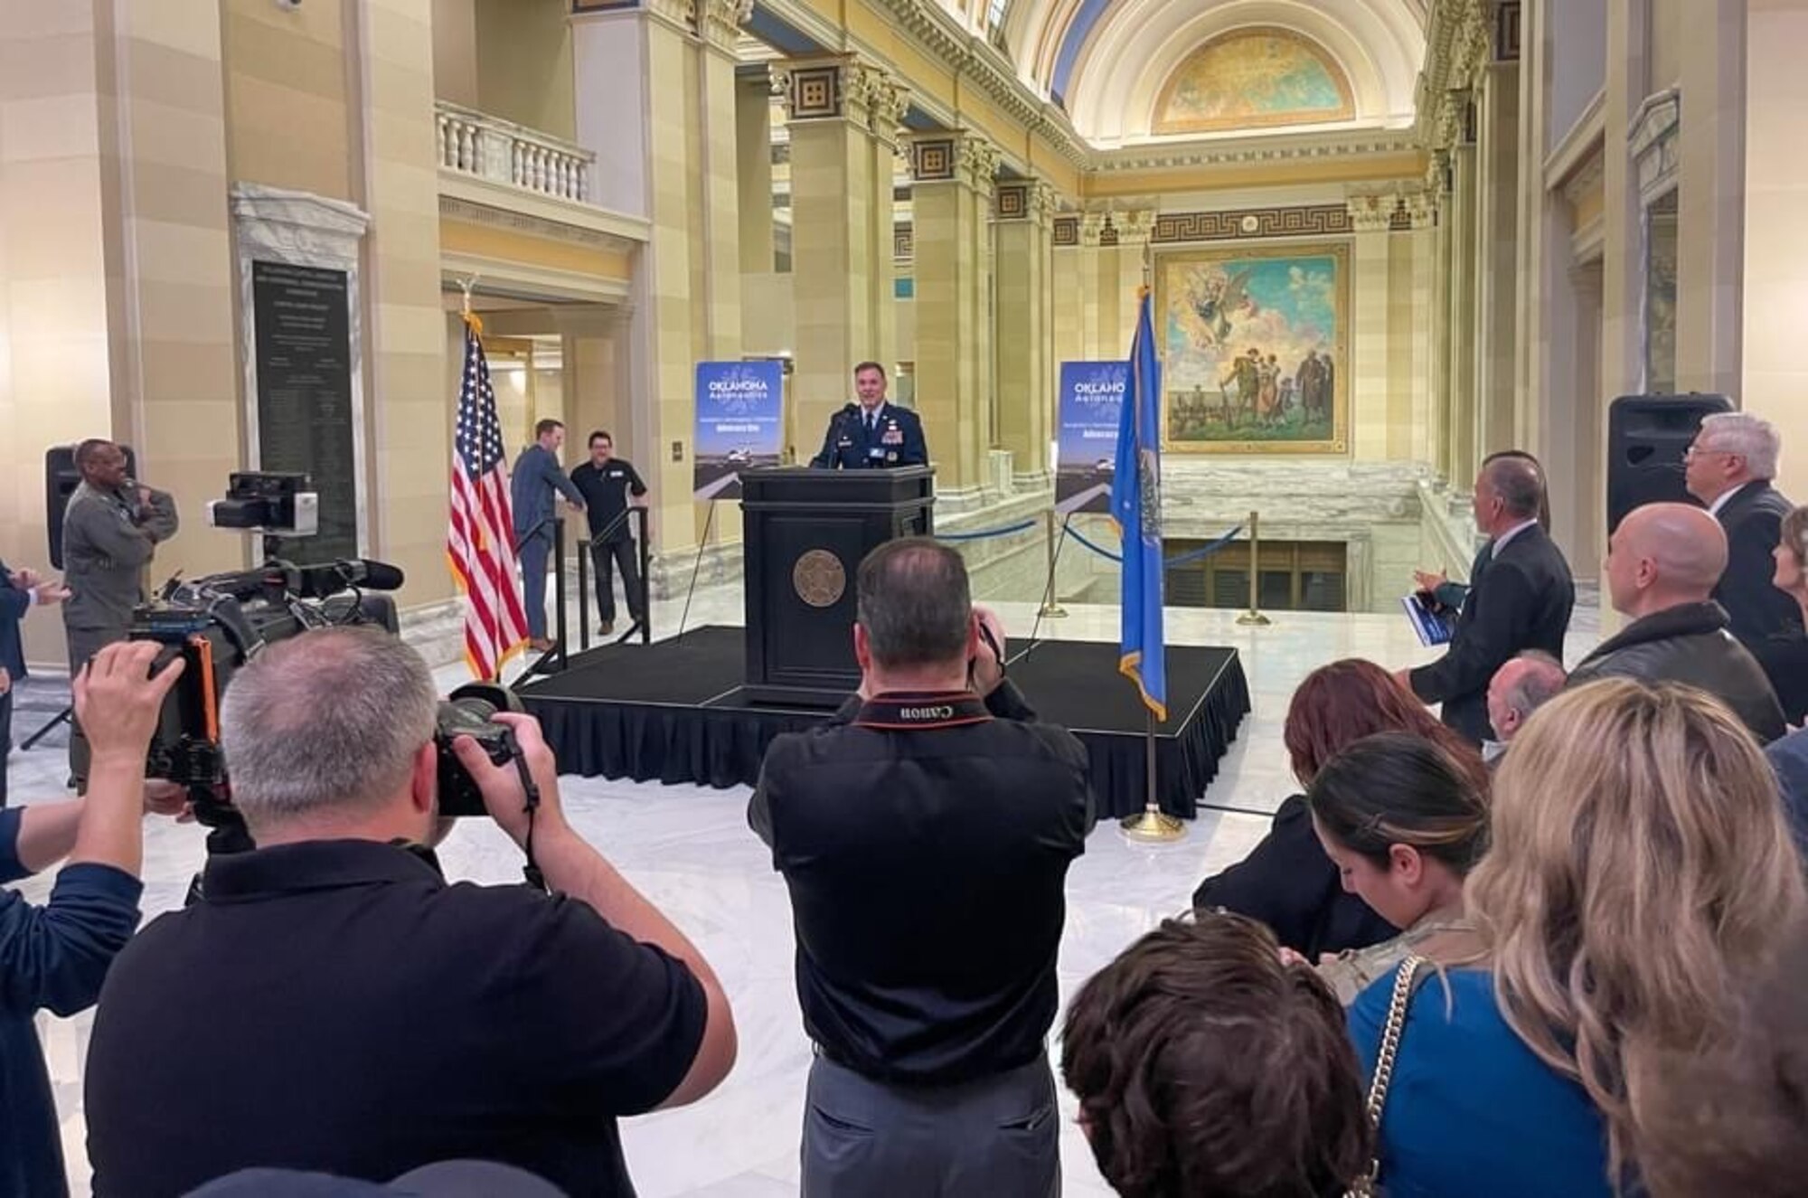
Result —
<svg viewBox="0 0 1808 1198"><path fill-rule="evenodd" d="M805 1028L875 1080L1014 1070L1043 1053L1059 1003L1067 867L1094 820L1087 751L1009 682L984 706L886 699L904 720L850 702L777 737L749 807L790 889ZM938 718L900 726L924 713Z"/></svg>

